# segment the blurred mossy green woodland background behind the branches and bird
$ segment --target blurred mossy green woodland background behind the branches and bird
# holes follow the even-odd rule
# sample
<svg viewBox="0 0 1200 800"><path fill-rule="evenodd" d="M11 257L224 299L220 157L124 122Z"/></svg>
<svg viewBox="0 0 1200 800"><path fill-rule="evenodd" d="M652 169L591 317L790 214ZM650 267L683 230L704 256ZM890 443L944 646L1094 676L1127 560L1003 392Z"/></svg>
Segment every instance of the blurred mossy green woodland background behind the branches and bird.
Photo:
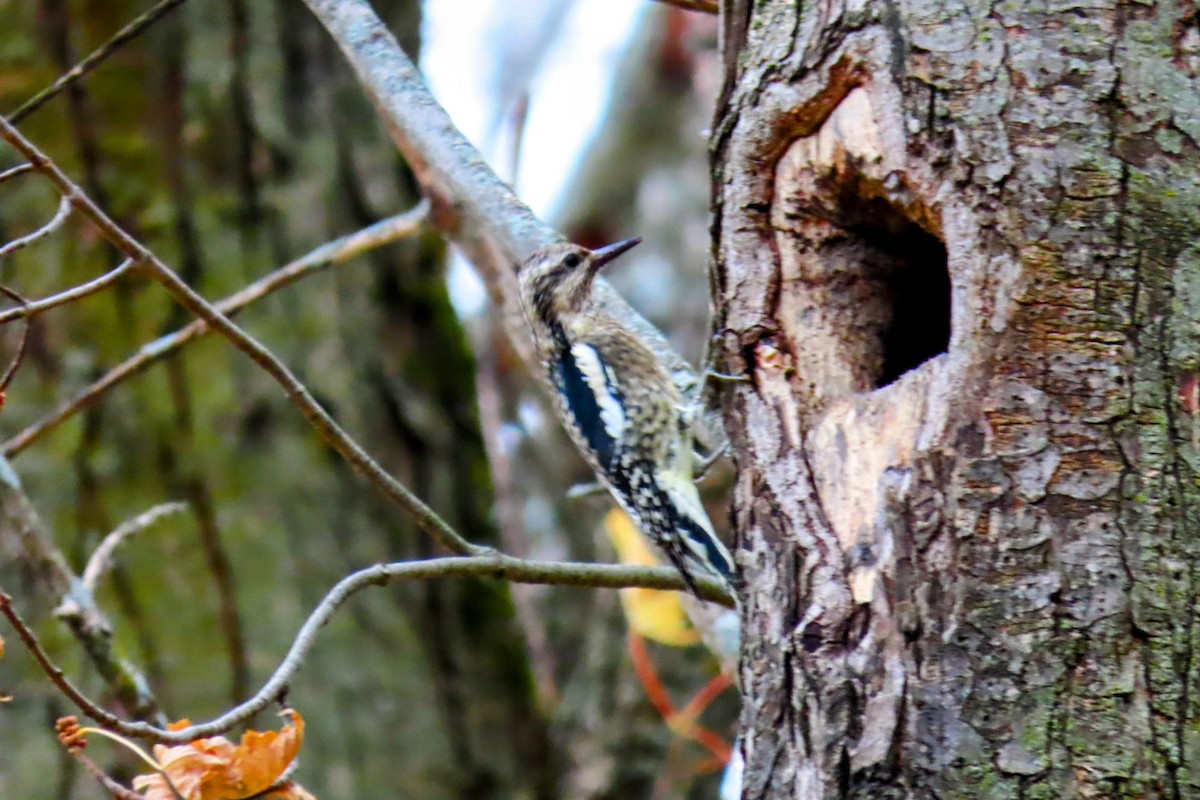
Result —
<svg viewBox="0 0 1200 800"><path fill-rule="evenodd" d="M565 22L592 1L506 4L524 8L520 18L493 13L479 44L487 49L463 59L491 70L457 79L494 98L486 110L508 131L498 137L508 144L492 148L502 174L511 174L514 109L538 103L529 96L538 54L571 48L563 37L578 28ZM149 5L0 0L0 110L17 109ZM419 59L422 4L373 5ZM588 100L607 110L552 222L590 246L646 236L611 277L695 359L707 325L715 18L652 2L635 13L612 96ZM190 0L20 130L214 300L419 199L341 54L299 0ZM0 170L17 163L0 149ZM56 203L40 179L6 182L0 241L42 224ZM424 233L306 277L239 319L470 541L517 555L612 560L606 500L566 499L588 470L486 308L451 296L451 261L443 241ZM0 282L41 297L115 264L74 218L0 263ZM98 600L120 655L146 675L166 712L204 720L258 688L338 578L436 551L218 337L156 361L44 435L17 438L187 321L137 277L41 315L0 413L0 438L76 571L121 522L186 504L121 546ZM2 331L6 354L19 327ZM706 485L718 524L726 521L722 483L718 475ZM0 587L70 676L130 711L53 616L58 599L32 575L11 524L0 530ZM0 706L0 796L104 796L54 740L54 718L73 709L8 633L0 694L13 699ZM715 674L703 648L652 645L652 655L679 704ZM371 589L322 632L289 700L308 722L295 777L323 799L698 798L713 796L720 776L702 766L708 751L673 736L647 699L611 591L467 579ZM726 692L704 721L732 740L734 716ZM269 714L256 721L277 726ZM89 753L116 776L140 771L104 742Z"/></svg>

